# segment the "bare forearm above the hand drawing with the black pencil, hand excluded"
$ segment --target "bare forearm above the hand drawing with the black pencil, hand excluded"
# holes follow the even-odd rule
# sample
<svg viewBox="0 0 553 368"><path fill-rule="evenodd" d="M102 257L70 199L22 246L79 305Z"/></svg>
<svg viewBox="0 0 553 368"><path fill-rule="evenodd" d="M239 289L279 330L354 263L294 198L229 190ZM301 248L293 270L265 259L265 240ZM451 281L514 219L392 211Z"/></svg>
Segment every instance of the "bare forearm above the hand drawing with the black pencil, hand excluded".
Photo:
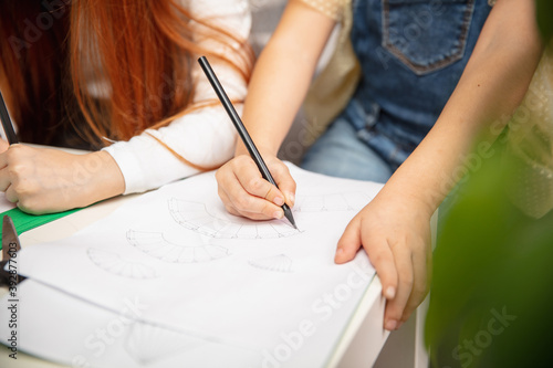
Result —
<svg viewBox="0 0 553 368"><path fill-rule="evenodd" d="M243 122L260 150L276 155L305 97L334 23L299 1L286 6L255 64L246 98ZM244 153L240 143L237 154Z"/></svg>

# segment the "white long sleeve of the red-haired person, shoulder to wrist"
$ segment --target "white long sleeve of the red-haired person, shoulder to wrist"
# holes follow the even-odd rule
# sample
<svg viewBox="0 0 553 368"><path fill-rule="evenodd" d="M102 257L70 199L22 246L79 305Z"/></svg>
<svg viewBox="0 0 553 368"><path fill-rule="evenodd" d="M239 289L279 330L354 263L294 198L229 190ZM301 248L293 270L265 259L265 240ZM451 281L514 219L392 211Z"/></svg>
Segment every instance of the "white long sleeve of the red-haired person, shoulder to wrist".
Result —
<svg viewBox="0 0 553 368"><path fill-rule="evenodd" d="M199 19L209 19L247 40L251 17L247 0L191 0L187 9ZM205 48L221 48L210 40L197 40ZM220 50L218 50L220 51ZM229 53L225 52L227 56ZM196 82L195 102L217 99L199 64L194 61L192 78ZM247 85L238 71L223 62L211 61L230 99L243 101ZM238 113L242 105L236 104ZM205 107L175 119L168 126L147 129L178 155L201 167L221 165L233 155L237 133L221 105ZM181 162L167 148L143 133L128 141L118 141L104 148L117 162L125 179L125 194L158 188L170 181L198 174Z"/></svg>

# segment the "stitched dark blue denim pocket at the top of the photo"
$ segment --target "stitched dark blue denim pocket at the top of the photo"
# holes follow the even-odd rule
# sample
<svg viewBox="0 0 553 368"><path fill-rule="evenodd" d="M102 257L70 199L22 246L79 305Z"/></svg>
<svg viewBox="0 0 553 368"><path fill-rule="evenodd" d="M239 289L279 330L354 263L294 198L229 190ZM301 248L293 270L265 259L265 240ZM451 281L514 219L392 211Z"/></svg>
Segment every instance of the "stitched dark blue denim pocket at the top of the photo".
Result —
<svg viewBox="0 0 553 368"><path fill-rule="evenodd" d="M383 48L418 75L462 59L474 0L382 0Z"/></svg>

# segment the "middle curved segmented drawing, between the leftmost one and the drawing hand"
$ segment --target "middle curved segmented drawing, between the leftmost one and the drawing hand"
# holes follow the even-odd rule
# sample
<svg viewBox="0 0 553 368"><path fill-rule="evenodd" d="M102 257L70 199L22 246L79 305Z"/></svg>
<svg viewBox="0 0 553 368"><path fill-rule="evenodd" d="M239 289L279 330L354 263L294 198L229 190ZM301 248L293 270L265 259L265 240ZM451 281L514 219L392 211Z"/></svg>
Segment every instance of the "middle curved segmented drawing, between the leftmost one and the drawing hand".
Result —
<svg viewBox="0 0 553 368"><path fill-rule="evenodd" d="M225 246L213 244L181 245L165 238L160 232L127 231L127 241L144 253L164 262L200 263L230 254Z"/></svg>

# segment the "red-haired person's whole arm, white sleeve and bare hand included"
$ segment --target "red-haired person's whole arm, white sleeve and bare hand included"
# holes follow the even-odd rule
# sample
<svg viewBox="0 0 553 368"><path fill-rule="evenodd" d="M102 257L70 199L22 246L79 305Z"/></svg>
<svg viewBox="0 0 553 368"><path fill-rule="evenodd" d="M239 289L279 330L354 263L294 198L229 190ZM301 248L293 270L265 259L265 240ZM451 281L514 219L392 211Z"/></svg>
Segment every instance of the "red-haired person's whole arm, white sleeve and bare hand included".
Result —
<svg viewBox="0 0 553 368"><path fill-rule="evenodd" d="M251 19L246 0L192 1L189 11L238 39L248 38ZM222 50L220 43L206 38L205 33L195 38L204 49L234 57L236 50ZM217 101L196 60L191 63L194 82L197 82L195 102ZM220 60L212 60L212 65L229 96L242 101L247 92L242 74ZM159 93L161 98L171 98L164 85L159 86ZM208 106L176 118L166 127L148 129L128 141L87 155L23 145L2 151L0 146L0 191L6 191L7 198L27 212L48 213L85 207L122 193L146 191L199 172L158 140L197 166L213 167L232 156L236 130L222 106Z"/></svg>

